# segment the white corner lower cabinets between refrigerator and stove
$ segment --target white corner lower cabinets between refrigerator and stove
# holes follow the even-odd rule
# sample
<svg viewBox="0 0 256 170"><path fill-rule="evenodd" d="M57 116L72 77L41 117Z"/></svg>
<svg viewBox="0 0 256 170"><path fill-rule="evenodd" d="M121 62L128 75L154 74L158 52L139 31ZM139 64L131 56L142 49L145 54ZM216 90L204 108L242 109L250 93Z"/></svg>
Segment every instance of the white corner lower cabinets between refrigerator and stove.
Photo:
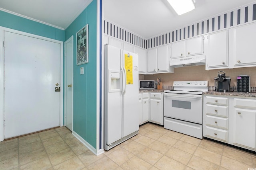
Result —
<svg viewBox="0 0 256 170"><path fill-rule="evenodd" d="M148 121L164 125L164 102L162 92L143 92L139 94L140 125Z"/></svg>

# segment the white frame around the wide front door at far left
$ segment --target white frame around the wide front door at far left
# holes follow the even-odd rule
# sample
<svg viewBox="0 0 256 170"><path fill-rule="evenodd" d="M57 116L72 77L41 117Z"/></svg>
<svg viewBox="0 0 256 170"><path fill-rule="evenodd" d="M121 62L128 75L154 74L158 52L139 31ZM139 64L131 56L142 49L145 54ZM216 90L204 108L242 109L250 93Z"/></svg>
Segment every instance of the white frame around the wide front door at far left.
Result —
<svg viewBox="0 0 256 170"><path fill-rule="evenodd" d="M63 126L63 42L14 29L0 27L0 141L4 141L4 31L26 35L60 44L60 126Z"/></svg>

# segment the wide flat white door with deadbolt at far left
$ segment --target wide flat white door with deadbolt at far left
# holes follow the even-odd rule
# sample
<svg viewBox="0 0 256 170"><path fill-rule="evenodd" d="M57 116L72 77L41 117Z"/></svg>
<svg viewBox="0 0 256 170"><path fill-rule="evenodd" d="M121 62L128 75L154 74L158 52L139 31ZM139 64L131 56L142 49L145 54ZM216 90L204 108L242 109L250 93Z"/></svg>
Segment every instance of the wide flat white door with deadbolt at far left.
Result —
<svg viewBox="0 0 256 170"><path fill-rule="evenodd" d="M60 43L4 31L4 139L60 126Z"/></svg>

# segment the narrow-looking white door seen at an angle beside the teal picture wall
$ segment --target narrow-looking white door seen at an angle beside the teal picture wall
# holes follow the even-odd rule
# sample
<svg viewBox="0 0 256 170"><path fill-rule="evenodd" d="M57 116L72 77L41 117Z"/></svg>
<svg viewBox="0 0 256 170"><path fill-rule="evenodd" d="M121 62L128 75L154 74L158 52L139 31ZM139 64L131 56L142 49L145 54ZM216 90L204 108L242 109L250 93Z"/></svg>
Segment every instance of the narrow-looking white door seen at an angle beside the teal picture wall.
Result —
<svg viewBox="0 0 256 170"><path fill-rule="evenodd" d="M66 127L73 129L73 36L64 43L65 51L65 121Z"/></svg>

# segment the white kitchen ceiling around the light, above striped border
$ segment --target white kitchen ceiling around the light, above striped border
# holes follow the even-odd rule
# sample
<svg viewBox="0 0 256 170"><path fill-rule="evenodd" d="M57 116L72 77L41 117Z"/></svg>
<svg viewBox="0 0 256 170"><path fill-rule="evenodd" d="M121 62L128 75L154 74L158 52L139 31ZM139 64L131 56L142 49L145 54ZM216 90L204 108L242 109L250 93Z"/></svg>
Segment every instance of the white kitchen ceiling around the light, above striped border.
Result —
<svg viewBox="0 0 256 170"><path fill-rule="evenodd" d="M144 38L187 26L255 0L194 0L196 9L178 16L167 0L103 0L104 18Z"/></svg>

